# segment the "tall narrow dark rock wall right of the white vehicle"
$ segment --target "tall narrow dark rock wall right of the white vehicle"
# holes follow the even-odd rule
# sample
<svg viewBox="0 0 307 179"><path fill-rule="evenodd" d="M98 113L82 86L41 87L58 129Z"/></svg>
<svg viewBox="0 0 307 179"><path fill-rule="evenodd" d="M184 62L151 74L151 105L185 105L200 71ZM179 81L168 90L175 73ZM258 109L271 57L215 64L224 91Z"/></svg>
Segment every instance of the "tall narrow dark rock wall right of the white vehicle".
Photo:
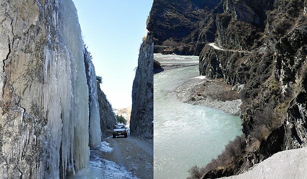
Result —
<svg viewBox="0 0 307 179"><path fill-rule="evenodd" d="M153 139L153 23L150 18L147 29L133 82L130 130L133 136Z"/></svg>

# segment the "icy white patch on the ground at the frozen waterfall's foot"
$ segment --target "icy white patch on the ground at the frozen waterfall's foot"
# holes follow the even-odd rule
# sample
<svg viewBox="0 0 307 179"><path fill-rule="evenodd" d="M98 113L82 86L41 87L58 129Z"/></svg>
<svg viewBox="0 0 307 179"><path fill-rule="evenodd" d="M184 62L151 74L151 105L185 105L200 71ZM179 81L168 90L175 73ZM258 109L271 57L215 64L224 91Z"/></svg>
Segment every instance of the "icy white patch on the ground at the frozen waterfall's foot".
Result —
<svg viewBox="0 0 307 179"><path fill-rule="evenodd" d="M122 165L101 158L112 150L107 142L102 142L99 147L90 151L88 168L78 171L75 176L68 176L68 179L139 179Z"/></svg>

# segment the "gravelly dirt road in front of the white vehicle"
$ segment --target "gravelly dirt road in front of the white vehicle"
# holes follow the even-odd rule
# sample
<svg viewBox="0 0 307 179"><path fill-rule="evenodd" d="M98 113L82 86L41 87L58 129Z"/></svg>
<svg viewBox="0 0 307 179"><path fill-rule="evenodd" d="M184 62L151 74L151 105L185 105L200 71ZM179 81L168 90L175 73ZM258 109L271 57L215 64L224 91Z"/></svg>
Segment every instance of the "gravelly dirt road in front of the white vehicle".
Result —
<svg viewBox="0 0 307 179"><path fill-rule="evenodd" d="M123 165L140 179L153 179L153 145L131 136L108 137L106 142L113 151L103 158Z"/></svg>

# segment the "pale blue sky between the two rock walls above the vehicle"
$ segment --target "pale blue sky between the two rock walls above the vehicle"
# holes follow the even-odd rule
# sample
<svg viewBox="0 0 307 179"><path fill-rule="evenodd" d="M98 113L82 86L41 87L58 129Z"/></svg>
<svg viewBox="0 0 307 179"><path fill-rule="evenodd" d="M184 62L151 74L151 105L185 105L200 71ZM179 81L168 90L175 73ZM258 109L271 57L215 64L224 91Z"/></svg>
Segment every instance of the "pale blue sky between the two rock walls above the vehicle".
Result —
<svg viewBox="0 0 307 179"><path fill-rule="evenodd" d="M113 108L128 107L153 0L73 0L101 89Z"/></svg>

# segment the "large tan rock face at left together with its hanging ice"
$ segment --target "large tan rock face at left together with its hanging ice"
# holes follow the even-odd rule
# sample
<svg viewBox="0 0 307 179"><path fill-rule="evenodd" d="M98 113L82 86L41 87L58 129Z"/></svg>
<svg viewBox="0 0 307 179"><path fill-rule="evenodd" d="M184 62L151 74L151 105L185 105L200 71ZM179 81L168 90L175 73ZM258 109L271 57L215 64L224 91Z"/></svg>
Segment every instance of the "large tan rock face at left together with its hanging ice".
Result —
<svg viewBox="0 0 307 179"><path fill-rule="evenodd" d="M100 139L75 5L2 0L0 21L0 179L65 179Z"/></svg>

